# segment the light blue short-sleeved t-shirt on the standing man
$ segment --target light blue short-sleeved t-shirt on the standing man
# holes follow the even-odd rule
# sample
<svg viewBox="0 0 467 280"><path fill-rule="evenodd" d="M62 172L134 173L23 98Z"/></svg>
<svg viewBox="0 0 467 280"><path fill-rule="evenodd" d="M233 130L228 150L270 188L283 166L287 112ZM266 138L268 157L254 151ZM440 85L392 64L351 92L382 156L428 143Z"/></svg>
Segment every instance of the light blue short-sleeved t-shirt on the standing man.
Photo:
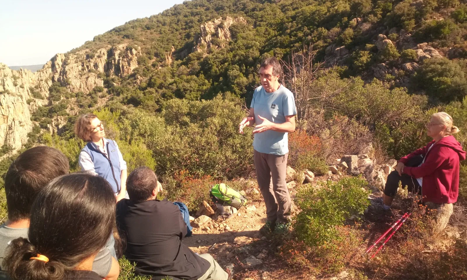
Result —
<svg viewBox="0 0 467 280"><path fill-rule="evenodd" d="M255 89L253 100L251 100L251 108L255 111L255 124L262 123L260 115L276 124L285 122L285 116L297 114L295 107L295 99L290 92L282 84L277 91L266 92L262 86ZM262 133L256 133L253 140L253 148L264 154L283 155L289 153L288 133L268 130Z"/></svg>

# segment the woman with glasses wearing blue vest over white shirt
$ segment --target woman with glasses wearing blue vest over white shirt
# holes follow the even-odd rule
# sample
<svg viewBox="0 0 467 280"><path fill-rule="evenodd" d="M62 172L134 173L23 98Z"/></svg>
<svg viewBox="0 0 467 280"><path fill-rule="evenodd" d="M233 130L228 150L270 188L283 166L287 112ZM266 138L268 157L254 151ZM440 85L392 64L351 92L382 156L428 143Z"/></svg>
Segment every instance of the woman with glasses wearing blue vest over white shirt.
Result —
<svg viewBox="0 0 467 280"><path fill-rule="evenodd" d="M79 166L82 171L97 174L112 186L120 201L127 195L127 162L123 160L117 142L106 139L104 125L94 114L79 116L75 123L75 133L86 146L79 153Z"/></svg>

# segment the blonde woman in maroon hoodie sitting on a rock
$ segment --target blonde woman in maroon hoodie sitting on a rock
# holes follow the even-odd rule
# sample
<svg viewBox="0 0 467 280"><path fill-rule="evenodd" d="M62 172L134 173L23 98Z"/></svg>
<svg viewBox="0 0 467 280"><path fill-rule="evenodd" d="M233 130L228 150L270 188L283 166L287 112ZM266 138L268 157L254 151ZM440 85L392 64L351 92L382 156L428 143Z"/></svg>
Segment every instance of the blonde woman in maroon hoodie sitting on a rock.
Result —
<svg viewBox="0 0 467 280"><path fill-rule="evenodd" d="M399 182L413 193L422 195L422 201L436 204L454 203L459 195L459 161L466 159L453 134L453 118L445 112L432 115L427 135L433 140L411 154L402 157L396 170L388 175L380 202L389 210Z"/></svg>

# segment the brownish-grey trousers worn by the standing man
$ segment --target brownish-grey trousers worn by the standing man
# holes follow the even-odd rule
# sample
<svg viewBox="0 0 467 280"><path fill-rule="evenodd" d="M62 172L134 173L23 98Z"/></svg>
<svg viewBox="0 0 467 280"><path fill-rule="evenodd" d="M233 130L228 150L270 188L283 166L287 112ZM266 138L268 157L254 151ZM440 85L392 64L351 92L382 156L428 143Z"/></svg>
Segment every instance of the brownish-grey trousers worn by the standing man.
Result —
<svg viewBox="0 0 467 280"><path fill-rule="evenodd" d="M264 154L255 150L253 156L268 221L284 223L290 219L290 194L285 182L288 155Z"/></svg>

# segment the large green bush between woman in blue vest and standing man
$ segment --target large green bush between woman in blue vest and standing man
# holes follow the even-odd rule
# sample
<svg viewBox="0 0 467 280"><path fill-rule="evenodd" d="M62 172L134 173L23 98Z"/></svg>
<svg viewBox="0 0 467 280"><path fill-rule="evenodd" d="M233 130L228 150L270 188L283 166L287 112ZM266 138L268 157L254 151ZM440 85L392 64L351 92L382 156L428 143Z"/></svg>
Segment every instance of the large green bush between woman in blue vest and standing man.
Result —
<svg viewBox="0 0 467 280"><path fill-rule="evenodd" d="M172 99L160 116L136 111L122 120L120 137L142 140L153 152L157 175L186 170L199 178L245 176L253 169L251 128L239 134L245 112L234 102Z"/></svg>

